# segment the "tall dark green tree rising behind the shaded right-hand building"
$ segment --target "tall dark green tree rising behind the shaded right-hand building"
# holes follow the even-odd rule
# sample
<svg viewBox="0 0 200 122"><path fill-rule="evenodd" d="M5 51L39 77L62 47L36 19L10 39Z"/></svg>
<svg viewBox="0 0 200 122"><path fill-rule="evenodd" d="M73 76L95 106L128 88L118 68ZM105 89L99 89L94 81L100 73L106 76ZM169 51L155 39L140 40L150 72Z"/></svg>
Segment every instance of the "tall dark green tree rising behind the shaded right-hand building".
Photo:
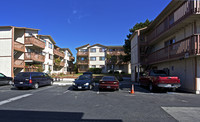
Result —
<svg viewBox="0 0 200 122"><path fill-rule="evenodd" d="M124 52L126 55L123 57L124 62L128 62L131 60L131 35L135 32L135 30L147 27L149 24L151 24L152 21L149 21L148 19L145 22L136 23L133 28L129 29L129 34L126 36L124 47Z"/></svg>

